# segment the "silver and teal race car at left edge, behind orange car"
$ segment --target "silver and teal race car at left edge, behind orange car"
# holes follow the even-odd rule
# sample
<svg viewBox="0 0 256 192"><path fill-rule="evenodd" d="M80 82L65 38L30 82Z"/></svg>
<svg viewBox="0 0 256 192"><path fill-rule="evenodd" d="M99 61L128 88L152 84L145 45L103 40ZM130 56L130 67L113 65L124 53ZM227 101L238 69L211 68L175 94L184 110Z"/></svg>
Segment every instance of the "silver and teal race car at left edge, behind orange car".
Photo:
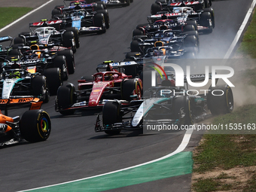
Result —
<svg viewBox="0 0 256 192"><path fill-rule="evenodd" d="M2 72L0 80L0 106L28 104L31 101L48 102L50 92L44 75L32 75L26 69L8 69ZM7 100L9 103L7 103Z"/></svg>

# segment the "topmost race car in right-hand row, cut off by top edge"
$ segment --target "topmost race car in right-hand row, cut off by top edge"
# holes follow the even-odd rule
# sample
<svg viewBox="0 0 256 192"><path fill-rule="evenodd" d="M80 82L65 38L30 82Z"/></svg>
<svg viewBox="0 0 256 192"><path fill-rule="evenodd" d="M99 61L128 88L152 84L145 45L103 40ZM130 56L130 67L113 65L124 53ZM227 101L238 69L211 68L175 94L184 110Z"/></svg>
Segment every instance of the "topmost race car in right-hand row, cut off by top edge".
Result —
<svg viewBox="0 0 256 192"><path fill-rule="evenodd" d="M151 14L157 14L160 11L172 12L173 8L176 7L190 7L194 11L201 11L204 8L210 8L212 6L212 0L156 0L151 5Z"/></svg>

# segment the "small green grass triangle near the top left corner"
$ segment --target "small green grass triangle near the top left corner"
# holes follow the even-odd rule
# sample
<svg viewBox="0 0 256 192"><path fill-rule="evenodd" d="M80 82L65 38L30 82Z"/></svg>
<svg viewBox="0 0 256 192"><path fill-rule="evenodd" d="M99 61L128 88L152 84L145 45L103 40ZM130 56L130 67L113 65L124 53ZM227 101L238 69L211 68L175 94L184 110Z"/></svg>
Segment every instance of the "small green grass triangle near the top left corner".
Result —
<svg viewBox="0 0 256 192"><path fill-rule="evenodd" d="M32 11L32 8L0 8L0 29Z"/></svg>

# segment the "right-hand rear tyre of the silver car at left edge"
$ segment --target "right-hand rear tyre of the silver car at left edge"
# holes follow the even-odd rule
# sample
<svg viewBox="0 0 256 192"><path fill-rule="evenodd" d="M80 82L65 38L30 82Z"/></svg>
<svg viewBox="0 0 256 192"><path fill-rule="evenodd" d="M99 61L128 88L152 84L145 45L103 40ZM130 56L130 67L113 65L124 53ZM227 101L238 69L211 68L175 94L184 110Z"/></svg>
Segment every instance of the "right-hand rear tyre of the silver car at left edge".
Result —
<svg viewBox="0 0 256 192"><path fill-rule="evenodd" d="M50 95L56 95L59 86L62 85L61 74L59 68L50 68L44 70L44 76L46 77L47 84L50 90Z"/></svg>

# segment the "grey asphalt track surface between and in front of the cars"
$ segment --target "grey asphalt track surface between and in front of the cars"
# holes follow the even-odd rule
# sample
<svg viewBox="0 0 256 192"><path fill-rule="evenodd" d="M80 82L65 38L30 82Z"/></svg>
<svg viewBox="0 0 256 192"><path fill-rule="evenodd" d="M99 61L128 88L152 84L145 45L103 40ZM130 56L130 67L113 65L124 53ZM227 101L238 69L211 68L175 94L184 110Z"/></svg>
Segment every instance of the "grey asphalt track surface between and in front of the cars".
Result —
<svg viewBox="0 0 256 192"><path fill-rule="evenodd" d="M223 58L230 47L252 0L213 2L215 29L212 34L200 35L200 58ZM111 27L103 35L83 35L81 47L75 53L75 74L69 80L77 86L83 75L92 75L103 60L124 59L129 52L132 31L139 23L147 23L154 0L134 0L126 8L109 9ZM19 32L29 31L29 23L50 19L55 5L51 2L34 14L0 33L0 36L16 37ZM120 136L95 133L95 114L88 110L71 116L54 111L55 96L42 108L50 114L52 132L46 142L12 145L0 149L1 191L26 190L64 181L72 181L111 172L139 163L145 163L175 151L183 134L137 135L126 132ZM23 114L25 109L9 111L9 115ZM190 148L200 136L192 136ZM183 187L181 189L181 186ZM153 181L112 191L189 191L190 175ZM170 190L172 189L172 190Z"/></svg>

